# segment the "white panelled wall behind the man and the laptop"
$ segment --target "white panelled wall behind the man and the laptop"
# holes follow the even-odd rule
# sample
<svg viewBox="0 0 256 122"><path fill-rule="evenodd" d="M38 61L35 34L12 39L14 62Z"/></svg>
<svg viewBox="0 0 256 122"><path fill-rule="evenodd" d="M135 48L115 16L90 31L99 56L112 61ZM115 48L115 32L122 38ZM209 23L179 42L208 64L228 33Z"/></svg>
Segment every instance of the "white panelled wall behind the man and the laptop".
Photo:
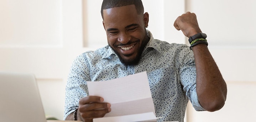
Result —
<svg viewBox="0 0 256 122"><path fill-rule="evenodd" d="M209 49L228 85L217 112L195 112L187 122L252 121L255 113L256 3L254 0L142 0L154 38L186 43L173 22L195 12ZM0 71L36 75L45 113L63 118L65 85L72 60L107 44L102 0L0 0Z"/></svg>

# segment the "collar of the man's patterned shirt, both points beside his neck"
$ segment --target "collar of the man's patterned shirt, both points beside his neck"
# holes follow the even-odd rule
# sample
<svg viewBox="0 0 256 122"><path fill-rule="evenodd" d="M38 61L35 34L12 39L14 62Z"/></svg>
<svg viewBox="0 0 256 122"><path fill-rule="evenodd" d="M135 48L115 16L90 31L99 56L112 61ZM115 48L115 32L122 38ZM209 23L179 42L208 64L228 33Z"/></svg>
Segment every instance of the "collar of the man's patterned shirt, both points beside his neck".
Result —
<svg viewBox="0 0 256 122"><path fill-rule="evenodd" d="M145 46L143 51L147 50L148 48L153 48L153 49L157 50L158 52L161 52L160 45L157 44L156 41L154 41L155 39L154 39L152 33L149 30L147 30L147 34L150 37L150 39L149 39L148 44ZM106 47L108 47L108 48L107 48L106 53L104 53L103 56L102 56L103 59L108 58L112 54L116 55L114 50L109 45L107 45Z"/></svg>

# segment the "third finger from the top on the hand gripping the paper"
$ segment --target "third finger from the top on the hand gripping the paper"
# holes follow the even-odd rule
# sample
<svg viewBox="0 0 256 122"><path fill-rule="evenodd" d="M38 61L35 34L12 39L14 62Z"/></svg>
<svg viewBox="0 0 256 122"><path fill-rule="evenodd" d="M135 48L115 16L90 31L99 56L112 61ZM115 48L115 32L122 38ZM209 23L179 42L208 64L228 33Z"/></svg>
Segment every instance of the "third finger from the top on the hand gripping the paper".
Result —
<svg viewBox="0 0 256 122"><path fill-rule="evenodd" d="M110 112L111 109L102 109L102 110L93 110L93 111L86 111L86 112L80 112L81 117L83 119L91 118L91 117L103 117L106 113Z"/></svg>

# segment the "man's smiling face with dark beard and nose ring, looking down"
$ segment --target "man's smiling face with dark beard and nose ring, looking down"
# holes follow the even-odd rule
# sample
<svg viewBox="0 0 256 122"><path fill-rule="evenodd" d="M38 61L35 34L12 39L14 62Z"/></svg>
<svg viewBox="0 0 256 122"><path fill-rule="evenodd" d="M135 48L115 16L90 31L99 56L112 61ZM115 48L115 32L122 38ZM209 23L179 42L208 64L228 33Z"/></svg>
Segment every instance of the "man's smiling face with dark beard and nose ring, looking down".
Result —
<svg viewBox="0 0 256 122"><path fill-rule="evenodd" d="M122 63L136 64L149 40L145 29L148 13L138 15L135 5L128 5L103 10L103 18L109 46Z"/></svg>

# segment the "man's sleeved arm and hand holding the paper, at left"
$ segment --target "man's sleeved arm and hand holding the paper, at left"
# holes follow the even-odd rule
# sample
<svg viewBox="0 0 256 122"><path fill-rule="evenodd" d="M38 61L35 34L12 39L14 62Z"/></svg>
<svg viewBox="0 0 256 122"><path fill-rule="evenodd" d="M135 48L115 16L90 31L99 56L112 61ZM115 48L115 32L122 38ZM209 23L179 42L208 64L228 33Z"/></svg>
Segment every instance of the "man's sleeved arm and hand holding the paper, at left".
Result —
<svg viewBox="0 0 256 122"><path fill-rule="evenodd" d="M103 117L111 111L110 105L103 102L103 98L89 96L87 82L89 77L89 64L85 54L78 56L72 63L68 75L65 97L65 120L74 120L73 111L78 107L77 120L92 122L93 118Z"/></svg>

